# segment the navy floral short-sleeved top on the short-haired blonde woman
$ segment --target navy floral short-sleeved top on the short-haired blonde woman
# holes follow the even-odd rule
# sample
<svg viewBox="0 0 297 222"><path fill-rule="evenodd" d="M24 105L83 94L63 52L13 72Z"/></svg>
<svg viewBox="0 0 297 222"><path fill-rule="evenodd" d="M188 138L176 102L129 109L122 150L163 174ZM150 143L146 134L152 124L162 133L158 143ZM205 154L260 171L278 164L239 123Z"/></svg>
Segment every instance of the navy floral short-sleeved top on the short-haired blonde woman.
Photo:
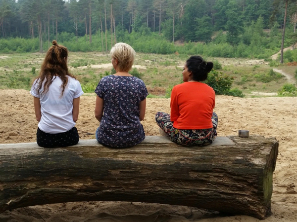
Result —
<svg viewBox="0 0 297 222"><path fill-rule="evenodd" d="M108 75L100 80L95 92L104 100L98 142L115 148L142 142L146 136L139 119L139 105L148 96L143 80L135 76Z"/></svg>

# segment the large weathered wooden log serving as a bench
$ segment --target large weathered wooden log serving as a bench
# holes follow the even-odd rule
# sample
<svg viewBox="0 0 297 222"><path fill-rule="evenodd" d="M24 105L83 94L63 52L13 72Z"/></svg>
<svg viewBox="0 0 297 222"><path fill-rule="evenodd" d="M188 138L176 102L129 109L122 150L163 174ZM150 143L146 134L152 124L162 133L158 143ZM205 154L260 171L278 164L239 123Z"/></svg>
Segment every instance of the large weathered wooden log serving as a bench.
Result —
<svg viewBox="0 0 297 222"><path fill-rule="evenodd" d="M134 201L193 206L265 219L271 214L278 141L218 137L183 147L147 136L124 149L81 140L66 148L0 145L0 213L72 201Z"/></svg>

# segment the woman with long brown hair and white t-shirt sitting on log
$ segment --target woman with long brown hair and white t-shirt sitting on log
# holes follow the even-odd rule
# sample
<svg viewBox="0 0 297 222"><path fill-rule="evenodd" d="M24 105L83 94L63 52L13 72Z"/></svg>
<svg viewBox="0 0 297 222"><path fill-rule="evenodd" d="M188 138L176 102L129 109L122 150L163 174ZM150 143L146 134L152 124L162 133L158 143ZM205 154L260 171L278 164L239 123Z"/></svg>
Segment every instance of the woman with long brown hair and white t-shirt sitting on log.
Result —
<svg viewBox="0 0 297 222"><path fill-rule="evenodd" d="M30 91L39 122L40 147L66 147L79 141L75 124L84 92L79 81L68 72L67 57L67 48L53 40Z"/></svg>

